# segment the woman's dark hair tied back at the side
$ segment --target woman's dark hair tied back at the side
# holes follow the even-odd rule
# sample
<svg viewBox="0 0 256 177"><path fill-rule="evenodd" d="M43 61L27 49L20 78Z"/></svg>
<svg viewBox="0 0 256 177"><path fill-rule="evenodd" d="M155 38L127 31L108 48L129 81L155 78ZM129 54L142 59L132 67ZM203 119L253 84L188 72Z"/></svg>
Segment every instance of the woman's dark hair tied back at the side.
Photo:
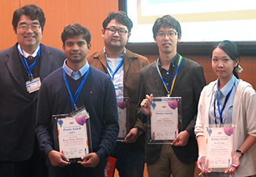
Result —
<svg viewBox="0 0 256 177"><path fill-rule="evenodd" d="M217 42L213 46L213 49L211 50L210 58L213 57L213 50L215 50L217 47L220 48L221 50L224 50L224 52L228 54L228 57L230 57L232 61L236 61L236 60L240 61L239 50L236 46L236 43L228 40ZM236 76L237 79L239 79L239 76L236 72L236 68L238 68L238 65L233 69L233 75Z"/></svg>

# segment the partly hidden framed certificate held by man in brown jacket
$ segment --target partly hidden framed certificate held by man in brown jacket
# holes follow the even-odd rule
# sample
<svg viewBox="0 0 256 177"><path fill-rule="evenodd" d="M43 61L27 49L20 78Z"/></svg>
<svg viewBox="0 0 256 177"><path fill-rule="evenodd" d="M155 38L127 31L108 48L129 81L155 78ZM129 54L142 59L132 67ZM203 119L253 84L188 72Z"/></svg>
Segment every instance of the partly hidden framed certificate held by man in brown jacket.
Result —
<svg viewBox="0 0 256 177"><path fill-rule="evenodd" d="M127 130L128 99L129 98L117 97L117 112L118 112L118 124L119 124L119 134L117 137L117 141L124 140L125 136L128 133L128 130Z"/></svg>

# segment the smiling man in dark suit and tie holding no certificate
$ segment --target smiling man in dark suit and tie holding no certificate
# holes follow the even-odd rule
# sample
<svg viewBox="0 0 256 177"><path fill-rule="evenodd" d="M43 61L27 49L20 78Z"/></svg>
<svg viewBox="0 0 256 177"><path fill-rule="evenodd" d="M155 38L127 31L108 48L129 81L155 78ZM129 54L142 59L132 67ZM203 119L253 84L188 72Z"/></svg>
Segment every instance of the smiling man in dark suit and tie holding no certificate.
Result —
<svg viewBox="0 0 256 177"><path fill-rule="evenodd" d="M35 138L42 80L61 67L65 54L41 44L46 18L35 5L13 13L17 43L0 51L0 176L47 176Z"/></svg>

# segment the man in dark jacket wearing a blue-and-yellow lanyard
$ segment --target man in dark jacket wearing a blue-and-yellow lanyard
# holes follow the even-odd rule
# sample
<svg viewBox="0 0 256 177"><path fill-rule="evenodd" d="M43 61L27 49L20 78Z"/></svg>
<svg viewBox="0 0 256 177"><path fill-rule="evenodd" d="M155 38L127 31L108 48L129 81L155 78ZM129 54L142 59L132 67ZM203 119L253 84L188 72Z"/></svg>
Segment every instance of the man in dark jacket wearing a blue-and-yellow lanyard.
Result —
<svg viewBox="0 0 256 177"><path fill-rule="evenodd" d="M146 144L147 171L150 177L169 177L171 174L173 177L193 177L198 157L195 118L200 92L206 85L203 69L176 52L181 37L180 23L176 19L169 15L159 18L154 23L153 33L159 58L140 72L137 116L150 124L153 95L181 97L182 105L178 109L182 109L182 115L179 115L179 134L172 144ZM150 138L150 128L147 138Z"/></svg>

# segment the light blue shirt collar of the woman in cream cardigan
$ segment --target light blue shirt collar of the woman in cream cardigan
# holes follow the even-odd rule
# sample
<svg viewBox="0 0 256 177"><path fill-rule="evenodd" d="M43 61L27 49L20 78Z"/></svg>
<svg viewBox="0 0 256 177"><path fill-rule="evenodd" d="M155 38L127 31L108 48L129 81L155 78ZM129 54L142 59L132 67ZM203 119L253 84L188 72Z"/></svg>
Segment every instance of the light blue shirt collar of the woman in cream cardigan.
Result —
<svg viewBox="0 0 256 177"><path fill-rule="evenodd" d="M213 93L215 95L216 100L221 101L221 98L225 98L228 95L229 91L231 90L232 86L234 85L236 76L233 75L232 78L228 80L228 83L226 83L221 90L218 90L218 80L213 88L214 89Z"/></svg>

